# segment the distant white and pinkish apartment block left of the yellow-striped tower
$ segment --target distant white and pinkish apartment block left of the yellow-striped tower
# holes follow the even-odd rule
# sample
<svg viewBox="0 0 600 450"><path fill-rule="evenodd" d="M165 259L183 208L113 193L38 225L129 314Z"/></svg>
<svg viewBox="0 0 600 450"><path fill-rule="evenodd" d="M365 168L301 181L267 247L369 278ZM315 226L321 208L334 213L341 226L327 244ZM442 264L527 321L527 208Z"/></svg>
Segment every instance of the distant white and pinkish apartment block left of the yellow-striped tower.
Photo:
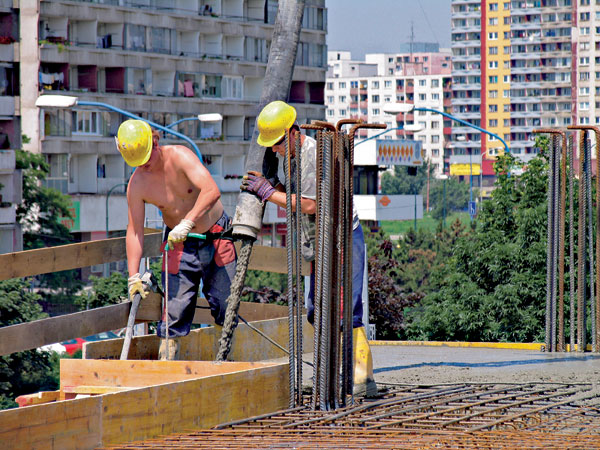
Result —
<svg viewBox="0 0 600 450"><path fill-rule="evenodd" d="M444 170L444 144L450 138L450 122L432 112L396 116L385 111L390 104L409 103L449 112L450 52L439 51L435 45L430 47L415 47L412 53L367 54L365 61L353 61L349 52L328 52L325 103L329 122L357 118L383 123L391 132L382 134L381 139L421 140L434 173L440 175ZM412 122L423 130L413 133L400 129ZM357 141L378 133L381 130L359 130Z"/></svg>

